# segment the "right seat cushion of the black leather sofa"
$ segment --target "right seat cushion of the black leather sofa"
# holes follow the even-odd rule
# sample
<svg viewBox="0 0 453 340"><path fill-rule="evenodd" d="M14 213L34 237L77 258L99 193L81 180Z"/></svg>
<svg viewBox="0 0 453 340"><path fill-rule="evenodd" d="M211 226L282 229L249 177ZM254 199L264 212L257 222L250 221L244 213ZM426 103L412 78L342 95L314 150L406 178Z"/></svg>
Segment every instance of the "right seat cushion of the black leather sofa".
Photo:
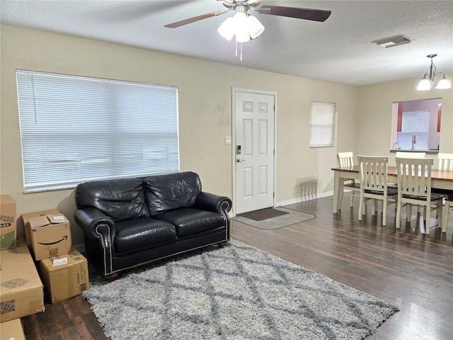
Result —
<svg viewBox="0 0 453 340"><path fill-rule="evenodd" d="M178 237L204 232L205 230L225 225L224 218L218 212L193 208L170 210L156 215L153 218L174 225Z"/></svg>

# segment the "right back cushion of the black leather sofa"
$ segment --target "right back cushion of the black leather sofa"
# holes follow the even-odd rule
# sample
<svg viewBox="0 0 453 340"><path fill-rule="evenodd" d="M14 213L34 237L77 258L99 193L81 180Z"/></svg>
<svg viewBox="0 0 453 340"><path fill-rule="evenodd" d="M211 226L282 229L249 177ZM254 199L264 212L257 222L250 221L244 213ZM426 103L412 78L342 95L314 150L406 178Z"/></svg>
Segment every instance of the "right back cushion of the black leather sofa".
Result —
<svg viewBox="0 0 453 340"><path fill-rule="evenodd" d="M143 179L144 193L151 216L193 205L201 191L195 172L149 176Z"/></svg>

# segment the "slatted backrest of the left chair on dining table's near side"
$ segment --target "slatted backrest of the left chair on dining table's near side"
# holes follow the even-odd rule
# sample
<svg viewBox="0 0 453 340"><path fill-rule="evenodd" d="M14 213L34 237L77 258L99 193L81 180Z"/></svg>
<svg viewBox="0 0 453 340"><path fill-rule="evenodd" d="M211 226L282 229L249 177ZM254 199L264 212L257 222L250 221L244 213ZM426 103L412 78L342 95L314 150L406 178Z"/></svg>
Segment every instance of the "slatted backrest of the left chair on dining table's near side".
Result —
<svg viewBox="0 0 453 340"><path fill-rule="evenodd" d="M372 190L387 192L387 163L386 156L357 156L359 162L360 188L362 191Z"/></svg>

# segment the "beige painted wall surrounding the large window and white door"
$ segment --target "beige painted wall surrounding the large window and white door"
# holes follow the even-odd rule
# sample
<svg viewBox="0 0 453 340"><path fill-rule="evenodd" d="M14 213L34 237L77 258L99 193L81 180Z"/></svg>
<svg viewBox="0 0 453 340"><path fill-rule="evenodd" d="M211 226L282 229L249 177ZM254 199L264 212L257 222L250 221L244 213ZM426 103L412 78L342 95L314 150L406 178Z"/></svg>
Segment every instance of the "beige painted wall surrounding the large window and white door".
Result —
<svg viewBox="0 0 453 340"><path fill-rule="evenodd" d="M275 91L277 203L331 193L338 151L388 154L391 102L420 98L401 91L413 81L357 89L13 26L2 25L0 34L0 192L16 199L18 215L58 208L73 222L74 197L73 190L23 193L16 69L178 86L180 169L200 174L205 191L230 197L233 164L224 137L231 136L231 88ZM309 148L311 101L336 103L336 147ZM453 152L451 108L450 94L442 115L446 152ZM74 222L72 234L74 244L83 242Z"/></svg>

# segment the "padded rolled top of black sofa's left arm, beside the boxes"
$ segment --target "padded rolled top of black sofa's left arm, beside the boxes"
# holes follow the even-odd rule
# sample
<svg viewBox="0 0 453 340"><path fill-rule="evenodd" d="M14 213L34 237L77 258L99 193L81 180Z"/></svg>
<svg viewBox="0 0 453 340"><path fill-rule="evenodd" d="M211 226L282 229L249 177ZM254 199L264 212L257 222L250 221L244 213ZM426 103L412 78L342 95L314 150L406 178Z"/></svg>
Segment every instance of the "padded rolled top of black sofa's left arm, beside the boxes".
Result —
<svg viewBox="0 0 453 340"><path fill-rule="evenodd" d="M74 220L84 231L85 237L98 239L110 247L115 238L115 221L96 208L76 209Z"/></svg>

